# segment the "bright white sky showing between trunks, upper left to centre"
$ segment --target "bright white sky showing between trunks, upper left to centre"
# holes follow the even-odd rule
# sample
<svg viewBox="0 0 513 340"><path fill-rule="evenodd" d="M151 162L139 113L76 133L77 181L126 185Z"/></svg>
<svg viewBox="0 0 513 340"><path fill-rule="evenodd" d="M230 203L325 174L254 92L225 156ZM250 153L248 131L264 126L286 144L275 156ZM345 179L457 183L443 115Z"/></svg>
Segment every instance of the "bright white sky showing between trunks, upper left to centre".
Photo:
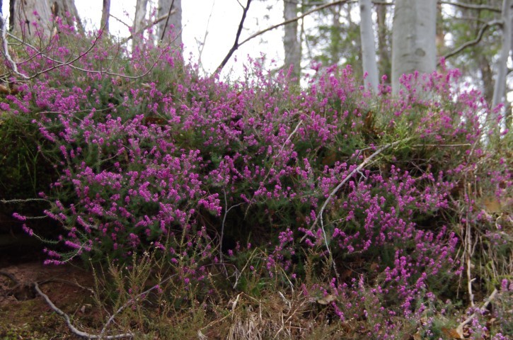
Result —
<svg viewBox="0 0 513 340"><path fill-rule="evenodd" d="M135 0L112 0L111 14L132 25L135 2ZM156 0L149 2L153 2L149 6L156 5ZM75 4L81 19L98 28L102 0L75 0ZM272 8L267 8L271 4ZM190 57L192 62L196 63L200 55L200 43L205 41L201 65L207 74L212 73L234 44L242 11L237 0L182 0L184 57L186 59ZM282 18L281 1L253 1L239 41L258 30L267 28L272 23L283 21ZM129 35L127 26L115 18L110 18L109 23L110 33L121 37ZM205 33L207 33L206 39ZM243 45L231 57L224 69L224 75L241 76L242 63L246 62L248 55L260 57L260 52L265 52L266 60L283 60L282 35L283 30L277 29Z"/></svg>

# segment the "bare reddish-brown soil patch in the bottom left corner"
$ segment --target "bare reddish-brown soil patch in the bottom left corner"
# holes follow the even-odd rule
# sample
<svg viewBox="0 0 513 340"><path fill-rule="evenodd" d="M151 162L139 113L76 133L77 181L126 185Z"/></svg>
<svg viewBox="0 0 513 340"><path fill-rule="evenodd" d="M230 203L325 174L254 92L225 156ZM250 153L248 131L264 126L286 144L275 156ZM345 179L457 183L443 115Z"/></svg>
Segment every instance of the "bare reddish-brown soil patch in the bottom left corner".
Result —
<svg viewBox="0 0 513 340"><path fill-rule="evenodd" d="M18 252L21 249L18 249ZM23 253L34 253L24 249ZM2 251L3 252L3 251ZM38 249L40 254L40 250ZM66 322L35 291L34 283L72 319L84 326L95 320L93 275L73 264L44 266L38 255L0 257L0 339L77 339ZM77 325L80 328L80 325Z"/></svg>

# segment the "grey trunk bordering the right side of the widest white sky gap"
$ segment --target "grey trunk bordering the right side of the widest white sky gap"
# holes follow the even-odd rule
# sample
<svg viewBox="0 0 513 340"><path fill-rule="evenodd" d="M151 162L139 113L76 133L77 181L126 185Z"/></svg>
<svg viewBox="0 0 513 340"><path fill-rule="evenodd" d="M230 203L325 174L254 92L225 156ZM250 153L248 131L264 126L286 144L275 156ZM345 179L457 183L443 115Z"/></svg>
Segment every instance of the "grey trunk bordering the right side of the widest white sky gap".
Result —
<svg viewBox="0 0 513 340"><path fill-rule="evenodd" d="M297 16L297 3L296 0L284 0L283 4L283 18L289 20ZM283 47L285 50L285 64L284 67L294 67L292 77L297 79L299 83L299 76L301 75L301 45L297 37L297 21L285 25L285 34L283 38Z"/></svg>

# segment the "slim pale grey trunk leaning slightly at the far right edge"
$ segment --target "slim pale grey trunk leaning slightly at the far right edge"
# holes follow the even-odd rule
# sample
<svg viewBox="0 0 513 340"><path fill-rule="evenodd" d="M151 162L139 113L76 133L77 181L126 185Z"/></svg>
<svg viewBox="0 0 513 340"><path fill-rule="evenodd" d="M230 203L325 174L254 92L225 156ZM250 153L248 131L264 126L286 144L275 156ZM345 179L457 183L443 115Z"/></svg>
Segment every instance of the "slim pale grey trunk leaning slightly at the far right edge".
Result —
<svg viewBox="0 0 513 340"><path fill-rule="evenodd" d="M499 62L497 62L497 79L493 89L492 106L504 103L506 95L507 60L511 50L511 18L509 17L511 0L502 1L502 48L500 50Z"/></svg>

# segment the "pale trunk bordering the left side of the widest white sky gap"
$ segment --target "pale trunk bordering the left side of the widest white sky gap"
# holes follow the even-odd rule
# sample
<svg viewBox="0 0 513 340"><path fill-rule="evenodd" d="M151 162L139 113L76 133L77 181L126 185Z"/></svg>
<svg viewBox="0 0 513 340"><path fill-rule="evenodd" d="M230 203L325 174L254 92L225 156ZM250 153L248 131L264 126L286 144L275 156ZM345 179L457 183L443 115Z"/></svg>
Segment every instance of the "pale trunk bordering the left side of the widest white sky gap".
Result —
<svg viewBox="0 0 513 340"><path fill-rule="evenodd" d="M170 42L173 45L182 45L182 0L158 0L158 18L168 16L157 25L158 40ZM173 30L170 33L171 25Z"/></svg>

